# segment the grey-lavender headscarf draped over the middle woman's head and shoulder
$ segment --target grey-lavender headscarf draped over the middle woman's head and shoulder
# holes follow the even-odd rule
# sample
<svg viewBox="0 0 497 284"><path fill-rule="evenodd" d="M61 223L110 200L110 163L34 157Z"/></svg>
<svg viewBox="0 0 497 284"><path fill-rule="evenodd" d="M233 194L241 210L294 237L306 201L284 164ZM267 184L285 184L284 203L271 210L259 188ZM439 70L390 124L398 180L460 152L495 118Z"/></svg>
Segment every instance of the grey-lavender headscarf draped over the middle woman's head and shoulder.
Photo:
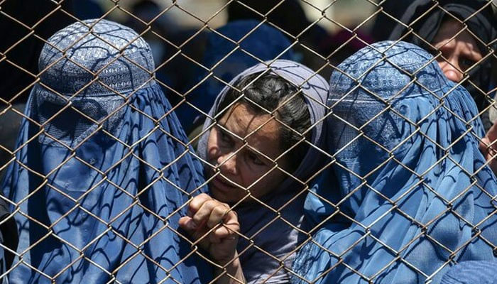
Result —
<svg viewBox="0 0 497 284"><path fill-rule="evenodd" d="M242 78L262 72L277 75L302 90L310 113L312 127L310 143L317 148L322 148L323 138L326 137L322 124L328 92L326 80L300 63L275 60L258 64L241 72L231 80L229 85L234 86ZM219 93L204 123L205 133L202 134L198 145L201 158L207 158L207 140L210 129L222 116L218 113L218 108L229 88L226 86ZM323 163L324 155L314 147L310 147L293 173L293 177L301 182L307 182ZM291 267L295 256L293 251L300 243L300 239L305 236L293 228L293 226L302 226L302 208L306 193L306 191L302 192L305 186L293 177L286 178L280 187L259 199L267 206L251 203L234 207L239 216L241 234L248 238L240 238L237 249L244 275L249 283L260 283L264 280L266 283L285 283L290 279L287 268ZM261 265L261 263L264 264Z"/></svg>

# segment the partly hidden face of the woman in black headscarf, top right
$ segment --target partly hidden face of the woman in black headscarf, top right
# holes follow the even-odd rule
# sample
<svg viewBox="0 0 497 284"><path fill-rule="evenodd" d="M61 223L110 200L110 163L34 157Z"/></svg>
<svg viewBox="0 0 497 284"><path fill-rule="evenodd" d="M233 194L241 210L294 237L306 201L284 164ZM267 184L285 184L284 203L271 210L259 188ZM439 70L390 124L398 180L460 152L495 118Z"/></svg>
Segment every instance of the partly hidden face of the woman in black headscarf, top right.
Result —
<svg viewBox="0 0 497 284"><path fill-rule="evenodd" d="M454 19L444 21L437 35L433 38L432 45L442 51L442 56L437 58L438 64L444 75L451 81L460 82L463 73L481 60L482 55L476 40L464 26ZM457 35L455 38L454 35Z"/></svg>

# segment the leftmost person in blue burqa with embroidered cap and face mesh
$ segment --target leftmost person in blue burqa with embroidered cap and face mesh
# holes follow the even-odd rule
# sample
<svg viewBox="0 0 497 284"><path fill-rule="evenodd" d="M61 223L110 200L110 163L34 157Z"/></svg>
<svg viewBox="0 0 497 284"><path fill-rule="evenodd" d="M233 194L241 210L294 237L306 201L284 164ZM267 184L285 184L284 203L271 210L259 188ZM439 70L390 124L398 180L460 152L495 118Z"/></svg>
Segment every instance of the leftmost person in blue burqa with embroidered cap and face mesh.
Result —
<svg viewBox="0 0 497 284"><path fill-rule="evenodd" d="M202 165L154 81L149 45L72 23L40 55L2 183L19 233L9 283L207 283L179 235Z"/></svg>

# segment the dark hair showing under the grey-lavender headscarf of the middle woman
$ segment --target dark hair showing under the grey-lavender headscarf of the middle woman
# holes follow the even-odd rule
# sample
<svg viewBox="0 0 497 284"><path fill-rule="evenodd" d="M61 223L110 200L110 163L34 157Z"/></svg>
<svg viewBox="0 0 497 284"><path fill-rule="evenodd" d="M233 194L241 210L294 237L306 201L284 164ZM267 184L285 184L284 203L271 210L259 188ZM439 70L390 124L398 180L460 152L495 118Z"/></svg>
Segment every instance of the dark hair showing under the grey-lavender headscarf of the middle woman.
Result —
<svg viewBox="0 0 497 284"><path fill-rule="evenodd" d="M217 108L218 112L226 111L235 100L246 104L257 114L274 112L276 119L284 124L280 127L280 146L283 151L301 141L302 136L307 141L310 140L311 132L305 133L311 126L309 109L298 87L278 75L261 75L261 73L241 78L234 87L224 96ZM301 161L308 148L307 143L301 142L288 151L288 158L290 161ZM293 172L300 163L289 163L289 165L290 168L287 170Z"/></svg>

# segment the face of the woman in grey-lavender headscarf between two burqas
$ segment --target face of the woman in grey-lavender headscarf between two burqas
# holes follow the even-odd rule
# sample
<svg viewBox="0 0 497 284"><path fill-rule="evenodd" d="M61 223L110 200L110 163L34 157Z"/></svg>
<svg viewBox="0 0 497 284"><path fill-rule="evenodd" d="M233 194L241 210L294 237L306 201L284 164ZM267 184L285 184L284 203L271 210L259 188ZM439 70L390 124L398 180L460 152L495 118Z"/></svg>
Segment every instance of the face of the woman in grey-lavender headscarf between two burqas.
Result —
<svg viewBox="0 0 497 284"><path fill-rule="evenodd" d="M270 114L256 114L244 103L226 111L207 141L207 160L215 166L207 165L207 175L211 177L217 170L223 175L209 182L212 197L237 202L249 191L262 197L283 182L285 174L279 167L285 168L286 161L284 157L276 160L283 153L280 127L284 126Z"/></svg>

